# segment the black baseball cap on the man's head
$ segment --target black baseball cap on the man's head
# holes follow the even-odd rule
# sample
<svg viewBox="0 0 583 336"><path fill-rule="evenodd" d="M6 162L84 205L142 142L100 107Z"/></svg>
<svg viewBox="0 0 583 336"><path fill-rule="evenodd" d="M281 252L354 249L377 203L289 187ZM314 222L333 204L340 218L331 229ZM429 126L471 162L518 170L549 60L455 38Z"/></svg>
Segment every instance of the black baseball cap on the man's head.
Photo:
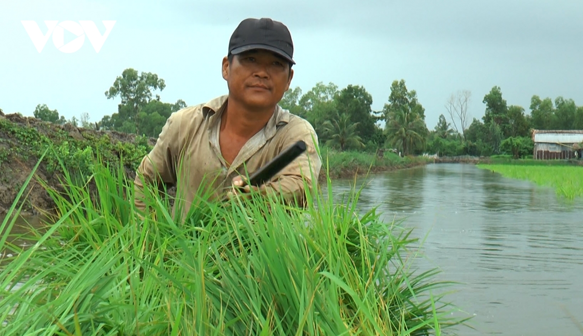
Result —
<svg viewBox="0 0 583 336"><path fill-rule="evenodd" d="M229 41L229 54L236 55L252 49L273 51L291 64L296 64L290 31L279 21L262 18L245 19L239 23Z"/></svg>

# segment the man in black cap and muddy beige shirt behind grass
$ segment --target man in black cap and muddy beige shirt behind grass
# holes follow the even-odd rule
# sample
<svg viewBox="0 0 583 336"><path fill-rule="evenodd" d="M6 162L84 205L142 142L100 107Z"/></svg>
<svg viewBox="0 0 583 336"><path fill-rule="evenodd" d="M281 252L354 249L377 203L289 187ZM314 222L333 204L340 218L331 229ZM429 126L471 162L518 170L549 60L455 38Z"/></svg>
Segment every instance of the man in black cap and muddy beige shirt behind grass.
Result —
<svg viewBox="0 0 583 336"><path fill-rule="evenodd" d="M290 87L294 64L293 43L284 24L243 20L223 58L229 94L168 118L136 171L136 207L145 209L143 182L177 186L175 215L186 215L197 193L214 199L233 197L238 192L234 187L247 174L298 140L306 143L306 151L258 191L303 202L304 182L310 188L317 183L322 163L312 125L278 105ZM250 191L248 185L243 191Z"/></svg>

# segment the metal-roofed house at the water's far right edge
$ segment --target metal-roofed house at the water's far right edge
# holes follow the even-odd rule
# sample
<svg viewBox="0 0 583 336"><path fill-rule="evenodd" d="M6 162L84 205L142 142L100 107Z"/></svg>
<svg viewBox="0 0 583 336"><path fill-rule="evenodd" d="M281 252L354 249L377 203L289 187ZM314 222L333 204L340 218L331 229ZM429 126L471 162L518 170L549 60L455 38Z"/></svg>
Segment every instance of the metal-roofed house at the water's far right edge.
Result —
<svg viewBox="0 0 583 336"><path fill-rule="evenodd" d="M583 129L534 129L535 160L580 159L583 147Z"/></svg>

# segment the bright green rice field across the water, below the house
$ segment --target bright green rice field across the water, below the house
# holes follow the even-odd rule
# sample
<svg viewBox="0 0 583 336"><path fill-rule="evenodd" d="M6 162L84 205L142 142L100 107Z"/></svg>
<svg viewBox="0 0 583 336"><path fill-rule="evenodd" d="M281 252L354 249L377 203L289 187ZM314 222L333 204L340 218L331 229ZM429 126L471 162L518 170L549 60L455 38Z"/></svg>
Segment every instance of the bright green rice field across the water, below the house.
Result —
<svg viewBox="0 0 583 336"><path fill-rule="evenodd" d="M533 160L535 161L535 160ZM567 199L583 196L583 167L564 164L478 164L502 176L528 180L538 185L552 187L557 195Z"/></svg>

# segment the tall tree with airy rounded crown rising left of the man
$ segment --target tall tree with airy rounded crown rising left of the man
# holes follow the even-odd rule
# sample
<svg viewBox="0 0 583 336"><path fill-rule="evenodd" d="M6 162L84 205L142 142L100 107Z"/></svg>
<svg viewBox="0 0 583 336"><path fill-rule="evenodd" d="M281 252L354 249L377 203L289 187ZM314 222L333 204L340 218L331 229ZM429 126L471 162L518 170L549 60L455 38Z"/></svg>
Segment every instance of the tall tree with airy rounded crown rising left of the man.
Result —
<svg viewBox="0 0 583 336"><path fill-rule="evenodd" d="M138 71L128 68L115 79L113 86L105 92L105 95L107 99L120 96L121 104L118 106L120 117L134 124L135 132L139 133L139 113L142 107L152 100L152 90L161 91L164 88L166 83L164 79L158 78L158 75L151 72L142 72L138 75Z"/></svg>

